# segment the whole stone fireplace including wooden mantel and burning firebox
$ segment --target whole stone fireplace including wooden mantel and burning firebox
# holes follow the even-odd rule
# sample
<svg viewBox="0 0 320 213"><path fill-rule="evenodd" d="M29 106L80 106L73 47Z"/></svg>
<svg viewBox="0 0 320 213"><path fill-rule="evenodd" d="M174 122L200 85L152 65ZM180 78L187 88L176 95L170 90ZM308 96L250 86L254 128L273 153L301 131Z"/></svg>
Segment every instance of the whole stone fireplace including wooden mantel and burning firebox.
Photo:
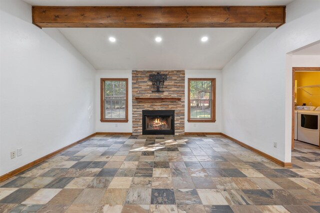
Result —
<svg viewBox="0 0 320 213"><path fill-rule="evenodd" d="M163 92L152 92L150 74L166 74ZM132 71L132 134L184 134L184 70L133 70ZM170 117L145 117L142 110L174 111ZM165 124L166 123L166 124ZM170 129L170 130L169 130ZM170 131L170 133L166 133Z"/></svg>

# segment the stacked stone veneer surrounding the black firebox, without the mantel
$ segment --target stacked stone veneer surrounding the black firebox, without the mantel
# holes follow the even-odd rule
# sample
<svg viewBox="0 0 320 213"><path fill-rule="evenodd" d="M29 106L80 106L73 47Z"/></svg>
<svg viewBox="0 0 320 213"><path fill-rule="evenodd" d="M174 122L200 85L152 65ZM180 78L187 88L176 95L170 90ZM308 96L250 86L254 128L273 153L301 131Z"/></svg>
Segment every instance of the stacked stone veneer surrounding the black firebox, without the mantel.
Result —
<svg viewBox="0 0 320 213"><path fill-rule="evenodd" d="M163 93L151 92L149 74L166 74ZM181 98L180 101L136 101L135 98ZM132 71L132 134L142 134L142 110L174 110L174 134L184 134L184 70Z"/></svg>

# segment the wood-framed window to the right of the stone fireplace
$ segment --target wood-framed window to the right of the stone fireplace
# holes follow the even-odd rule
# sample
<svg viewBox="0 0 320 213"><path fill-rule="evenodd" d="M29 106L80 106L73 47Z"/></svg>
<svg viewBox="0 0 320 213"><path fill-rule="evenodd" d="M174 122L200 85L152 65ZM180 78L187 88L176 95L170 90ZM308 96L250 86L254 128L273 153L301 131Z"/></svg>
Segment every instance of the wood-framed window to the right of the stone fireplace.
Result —
<svg viewBox="0 0 320 213"><path fill-rule="evenodd" d="M188 78L188 122L215 122L215 78Z"/></svg>

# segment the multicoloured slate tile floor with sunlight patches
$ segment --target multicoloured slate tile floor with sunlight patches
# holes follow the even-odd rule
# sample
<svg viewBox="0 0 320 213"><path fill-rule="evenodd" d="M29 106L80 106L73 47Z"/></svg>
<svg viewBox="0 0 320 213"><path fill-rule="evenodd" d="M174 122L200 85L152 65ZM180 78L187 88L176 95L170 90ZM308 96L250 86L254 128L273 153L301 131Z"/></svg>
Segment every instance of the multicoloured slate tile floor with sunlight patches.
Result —
<svg viewBox="0 0 320 213"><path fill-rule="evenodd" d="M320 150L296 142L292 163L221 136L95 136L0 183L0 212L320 212Z"/></svg>

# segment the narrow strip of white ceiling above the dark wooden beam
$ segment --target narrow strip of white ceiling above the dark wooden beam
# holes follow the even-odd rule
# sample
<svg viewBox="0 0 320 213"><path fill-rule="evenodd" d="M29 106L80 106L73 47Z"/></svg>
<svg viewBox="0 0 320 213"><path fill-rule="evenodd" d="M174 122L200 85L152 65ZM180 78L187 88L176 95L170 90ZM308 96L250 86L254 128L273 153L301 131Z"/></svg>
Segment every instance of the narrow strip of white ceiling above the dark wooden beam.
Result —
<svg viewBox="0 0 320 213"><path fill-rule="evenodd" d="M293 0L24 0L31 5L47 6L220 6L286 5Z"/></svg>

